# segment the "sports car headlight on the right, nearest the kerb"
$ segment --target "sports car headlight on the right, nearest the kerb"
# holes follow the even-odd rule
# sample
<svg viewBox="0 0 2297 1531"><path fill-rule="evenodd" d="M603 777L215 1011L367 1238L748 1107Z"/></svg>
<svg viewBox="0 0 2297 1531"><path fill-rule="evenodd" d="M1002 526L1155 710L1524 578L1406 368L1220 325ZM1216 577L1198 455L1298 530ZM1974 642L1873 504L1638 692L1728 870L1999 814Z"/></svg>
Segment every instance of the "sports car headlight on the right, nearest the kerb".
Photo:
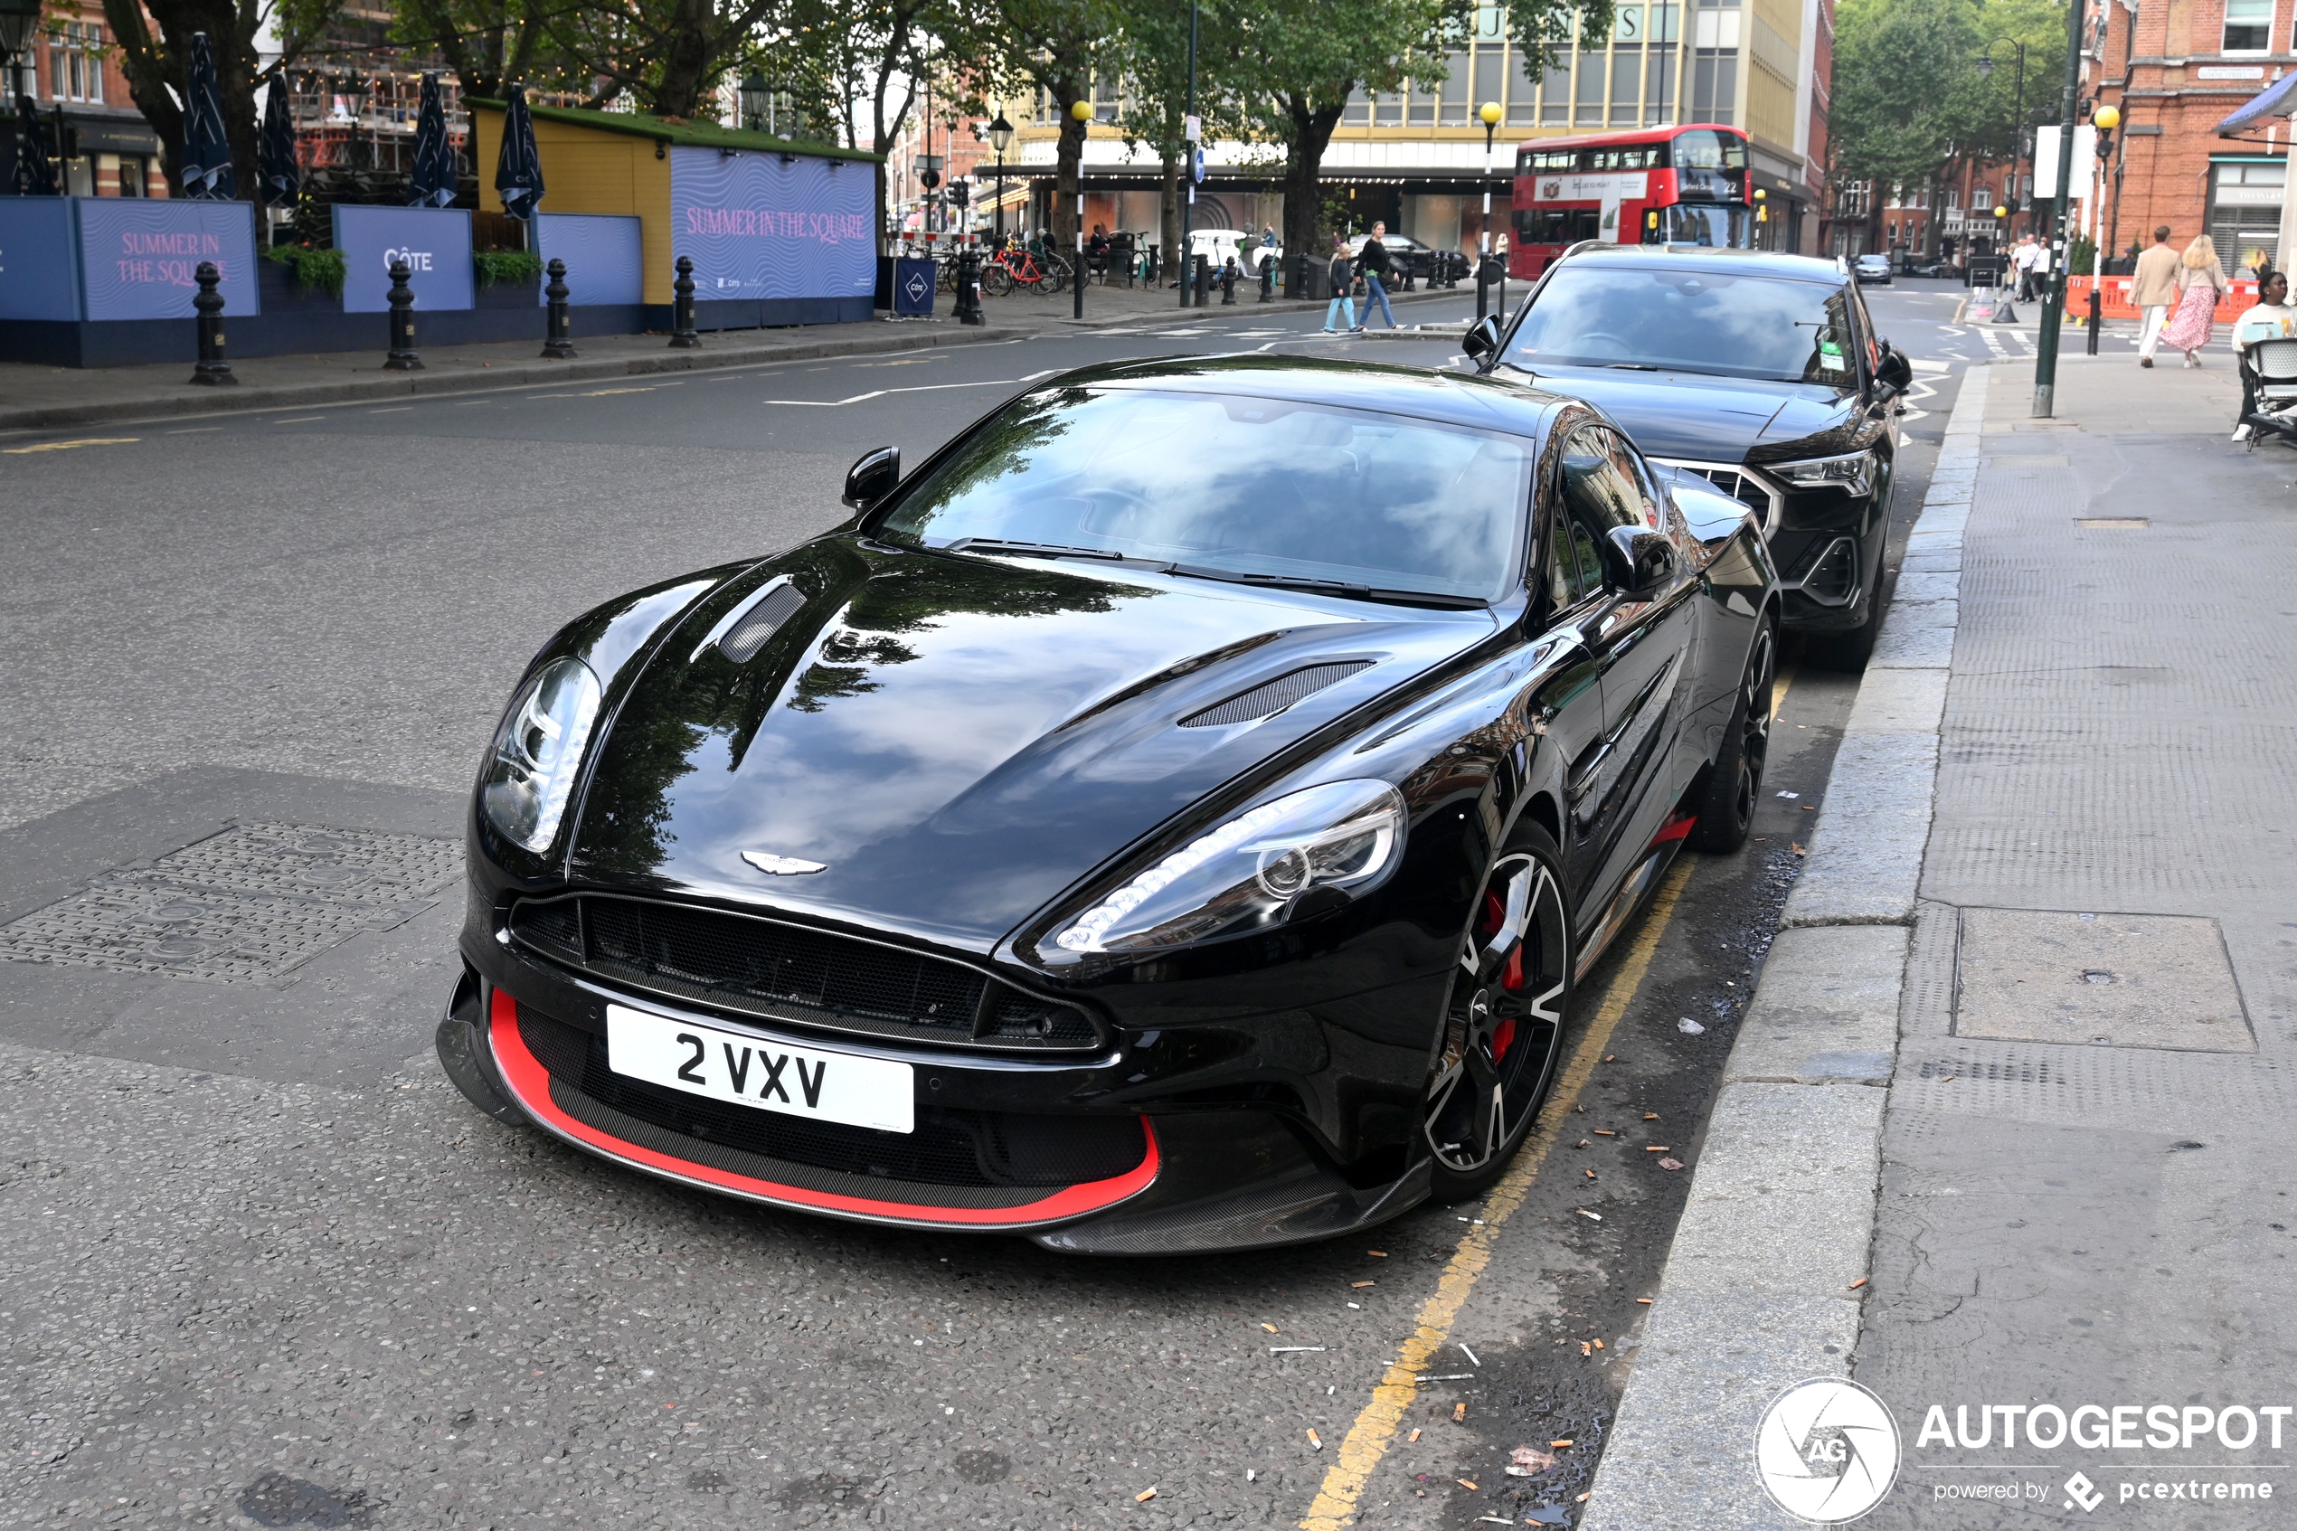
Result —
<svg viewBox="0 0 2297 1531"><path fill-rule="evenodd" d="M1314 888L1376 879L1403 849L1403 794L1385 780L1307 787L1197 836L1052 939L1139 953L1266 925Z"/></svg>

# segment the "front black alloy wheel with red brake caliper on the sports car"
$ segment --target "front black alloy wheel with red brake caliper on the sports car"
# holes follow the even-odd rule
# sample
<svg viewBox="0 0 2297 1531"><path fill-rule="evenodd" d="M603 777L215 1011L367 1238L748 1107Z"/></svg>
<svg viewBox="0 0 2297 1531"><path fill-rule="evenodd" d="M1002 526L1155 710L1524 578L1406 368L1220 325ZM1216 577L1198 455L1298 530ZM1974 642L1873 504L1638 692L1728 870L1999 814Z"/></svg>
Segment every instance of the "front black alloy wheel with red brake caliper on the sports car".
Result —
<svg viewBox="0 0 2297 1531"><path fill-rule="evenodd" d="M1424 1109L1438 1200L1482 1196L1555 1083L1571 1008L1562 858L1537 829L1484 879L1463 941Z"/></svg>

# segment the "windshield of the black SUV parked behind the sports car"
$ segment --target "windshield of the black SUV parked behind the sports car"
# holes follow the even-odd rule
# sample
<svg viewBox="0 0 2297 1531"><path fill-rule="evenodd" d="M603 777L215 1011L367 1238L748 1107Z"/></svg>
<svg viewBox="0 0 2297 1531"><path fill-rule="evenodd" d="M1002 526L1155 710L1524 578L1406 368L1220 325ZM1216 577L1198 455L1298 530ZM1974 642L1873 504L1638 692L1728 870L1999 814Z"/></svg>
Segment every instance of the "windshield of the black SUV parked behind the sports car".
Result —
<svg viewBox="0 0 2297 1531"><path fill-rule="evenodd" d="M1523 310L1505 360L1656 367L1851 388L1840 287L1679 266L1564 264Z"/></svg>

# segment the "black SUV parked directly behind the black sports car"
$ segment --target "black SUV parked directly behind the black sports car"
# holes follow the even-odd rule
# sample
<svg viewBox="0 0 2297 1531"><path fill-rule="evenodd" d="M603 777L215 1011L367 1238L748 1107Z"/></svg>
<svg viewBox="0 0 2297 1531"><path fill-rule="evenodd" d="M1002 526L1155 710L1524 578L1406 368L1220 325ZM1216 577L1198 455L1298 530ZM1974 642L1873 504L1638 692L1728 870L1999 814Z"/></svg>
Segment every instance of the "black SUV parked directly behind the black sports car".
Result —
<svg viewBox="0 0 2297 1531"><path fill-rule="evenodd" d="M1647 457L1762 519L1785 624L1817 663L1861 668L1881 627L1897 459L1893 399L1913 381L1833 262L1764 250L1583 243L1550 264L1484 372L1594 402Z"/></svg>

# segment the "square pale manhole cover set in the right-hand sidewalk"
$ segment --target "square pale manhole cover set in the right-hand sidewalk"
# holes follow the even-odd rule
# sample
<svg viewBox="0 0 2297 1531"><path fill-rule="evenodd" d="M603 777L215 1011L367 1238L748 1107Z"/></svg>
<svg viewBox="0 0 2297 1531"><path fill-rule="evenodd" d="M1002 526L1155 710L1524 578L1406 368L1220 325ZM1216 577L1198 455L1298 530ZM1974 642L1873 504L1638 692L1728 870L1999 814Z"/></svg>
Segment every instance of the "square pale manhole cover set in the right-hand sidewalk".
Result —
<svg viewBox="0 0 2297 1531"><path fill-rule="evenodd" d="M1964 909L1955 1035L2256 1051L2217 920Z"/></svg>

